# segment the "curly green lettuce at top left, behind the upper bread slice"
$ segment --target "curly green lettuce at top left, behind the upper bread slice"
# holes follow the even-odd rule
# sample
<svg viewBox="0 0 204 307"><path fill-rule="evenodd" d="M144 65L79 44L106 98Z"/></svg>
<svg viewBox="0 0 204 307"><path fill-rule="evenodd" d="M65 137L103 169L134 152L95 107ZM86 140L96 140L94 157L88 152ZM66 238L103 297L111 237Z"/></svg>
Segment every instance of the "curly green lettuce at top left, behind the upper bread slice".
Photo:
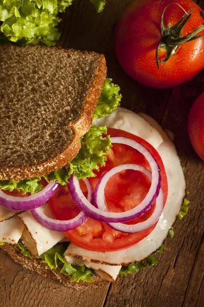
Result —
<svg viewBox="0 0 204 307"><path fill-rule="evenodd" d="M97 12L105 1L90 0ZM39 42L54 46L60 37L56 28L61 19L59 12L73 0L0 0L0 41L30 43Z"/></svg>

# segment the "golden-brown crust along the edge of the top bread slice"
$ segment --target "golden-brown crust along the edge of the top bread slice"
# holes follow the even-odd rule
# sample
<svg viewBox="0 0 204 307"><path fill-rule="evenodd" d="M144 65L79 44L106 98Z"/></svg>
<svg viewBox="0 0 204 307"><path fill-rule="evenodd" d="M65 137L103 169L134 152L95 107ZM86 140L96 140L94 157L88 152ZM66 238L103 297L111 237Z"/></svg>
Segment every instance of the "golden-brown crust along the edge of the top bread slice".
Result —
<svg viewBox="0 0 204 307"><path fill-rule="evenodd" d="M51 47L40 47L38 48L51 48ZM16 47L9 47L16 48ZM32 48L30 46L24 48ZM56 48L61 50L61 52L79 52L79 53L90 53L87 51L75 51L72 49L63 50L61 48ZM93 53L95 54L95 53ZM80 137L85 135L90 129L92 124L93 113L96 108L96 103L98 97L100 96L101 87L104 85L104 78L107 75L106 60L103 54L99 55L97 71L92 78L92 84L87 92L85 102L83 104L83 112L81 117L77 122L71 123L69 126L72 130L73 138L71 142L67 145L63 152L60 152L57 156L49 159L43 163L28 165L22 167L16 166L0 166L0 180L12 180L19 181L23 179L30 179L33 177L41 177L44 174L50 173L52 171L58 170L59 168L65 166L69 163L75 156L77 156L80 148L81 141Z"/></svg>

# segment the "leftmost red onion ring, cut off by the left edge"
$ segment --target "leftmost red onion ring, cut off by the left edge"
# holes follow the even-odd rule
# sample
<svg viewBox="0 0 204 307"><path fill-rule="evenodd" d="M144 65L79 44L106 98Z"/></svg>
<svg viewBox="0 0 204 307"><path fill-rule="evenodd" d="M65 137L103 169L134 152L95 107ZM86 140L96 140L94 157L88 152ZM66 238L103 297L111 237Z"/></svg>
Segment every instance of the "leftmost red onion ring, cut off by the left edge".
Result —
<svg viewBox="0 0 204 307"><path fill-rule="evenodd" d="M44 205L55 193L59 184L54 182L48 185L41 191L25 197L11 196L0 190L0 205L10 210L31 210Z"/></svg>

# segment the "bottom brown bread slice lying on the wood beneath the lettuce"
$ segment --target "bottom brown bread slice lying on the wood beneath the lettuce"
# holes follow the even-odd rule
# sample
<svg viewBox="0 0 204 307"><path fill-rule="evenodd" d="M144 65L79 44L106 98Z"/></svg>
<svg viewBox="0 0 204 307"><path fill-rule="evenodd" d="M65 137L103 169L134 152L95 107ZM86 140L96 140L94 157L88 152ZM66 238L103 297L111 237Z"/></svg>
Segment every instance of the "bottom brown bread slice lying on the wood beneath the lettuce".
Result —
<svg viewBox="0 0 204 307"><path fill-rule="evenodd" d="M79 282L71 282L70 276L65 276L60 273L61 268L50 270L50 268L40 259L30 259L29 257L23 256L18 250L15 249L13 245L5 244L3 246L0 246L0 248L5 250L15 262L22 265L24 268L37 272L44 277L59 280L66 287L83 289L88 287L96 288L98 286L107 284L107 281L101 279L98 275L93 275L91 277L92 282L86 282L82 280L80 280Z"/></svg>

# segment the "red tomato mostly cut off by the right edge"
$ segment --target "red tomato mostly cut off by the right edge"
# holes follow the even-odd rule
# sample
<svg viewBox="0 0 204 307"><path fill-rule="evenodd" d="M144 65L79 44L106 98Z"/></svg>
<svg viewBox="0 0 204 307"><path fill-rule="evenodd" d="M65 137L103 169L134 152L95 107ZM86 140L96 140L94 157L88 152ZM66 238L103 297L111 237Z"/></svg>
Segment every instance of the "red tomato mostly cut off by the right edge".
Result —
<svg viewBox="0 0 204 307"><path fill-rule="evenodd" d="M188 133L195 151L204 160L204 92L191 108L188 118Z"/></svg>

